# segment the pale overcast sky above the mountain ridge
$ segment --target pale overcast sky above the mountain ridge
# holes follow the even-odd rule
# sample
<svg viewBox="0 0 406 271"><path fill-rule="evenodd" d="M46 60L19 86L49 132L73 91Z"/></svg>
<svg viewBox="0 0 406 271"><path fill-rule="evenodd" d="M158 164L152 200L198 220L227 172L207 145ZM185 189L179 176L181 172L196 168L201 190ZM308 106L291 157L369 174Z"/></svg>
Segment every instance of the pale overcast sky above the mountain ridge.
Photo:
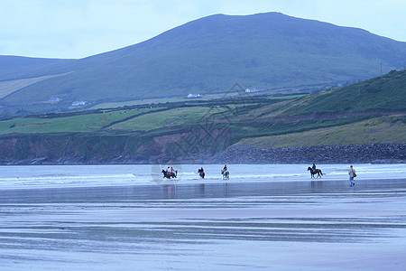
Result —
<svg viewBox="0 0 406 271"><path fill-rule="evenodd" d="M211 14L266 12L406 42L406 0L0 0L0 55L79 59Z"/></svg>

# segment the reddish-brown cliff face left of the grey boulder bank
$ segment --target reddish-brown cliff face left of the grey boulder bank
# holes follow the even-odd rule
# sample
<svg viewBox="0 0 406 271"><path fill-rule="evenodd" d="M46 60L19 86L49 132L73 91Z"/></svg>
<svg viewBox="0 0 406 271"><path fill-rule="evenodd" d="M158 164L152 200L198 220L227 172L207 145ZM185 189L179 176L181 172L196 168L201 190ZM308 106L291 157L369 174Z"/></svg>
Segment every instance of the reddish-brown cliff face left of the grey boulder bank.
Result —
<svg viewBox="0 0 406 271"><path fill-rule="evenodd" d="M0 164L180 163L211 157L230 145L230 135L222 134L221 138L206 135L200 130L155 136L4 135L0 137Z"/></svg>

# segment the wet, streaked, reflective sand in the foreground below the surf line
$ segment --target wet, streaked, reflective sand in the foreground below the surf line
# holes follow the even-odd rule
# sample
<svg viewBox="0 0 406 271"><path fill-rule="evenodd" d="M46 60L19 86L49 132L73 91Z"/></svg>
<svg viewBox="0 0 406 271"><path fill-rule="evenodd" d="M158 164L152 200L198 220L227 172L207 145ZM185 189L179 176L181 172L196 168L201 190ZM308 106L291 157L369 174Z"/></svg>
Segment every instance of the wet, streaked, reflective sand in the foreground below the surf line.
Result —
<svg viewBox="0 0 406 271"><path fill-rule="evenodd" d="M406 268L406 179L0 193L1 270Z"/></svg>

